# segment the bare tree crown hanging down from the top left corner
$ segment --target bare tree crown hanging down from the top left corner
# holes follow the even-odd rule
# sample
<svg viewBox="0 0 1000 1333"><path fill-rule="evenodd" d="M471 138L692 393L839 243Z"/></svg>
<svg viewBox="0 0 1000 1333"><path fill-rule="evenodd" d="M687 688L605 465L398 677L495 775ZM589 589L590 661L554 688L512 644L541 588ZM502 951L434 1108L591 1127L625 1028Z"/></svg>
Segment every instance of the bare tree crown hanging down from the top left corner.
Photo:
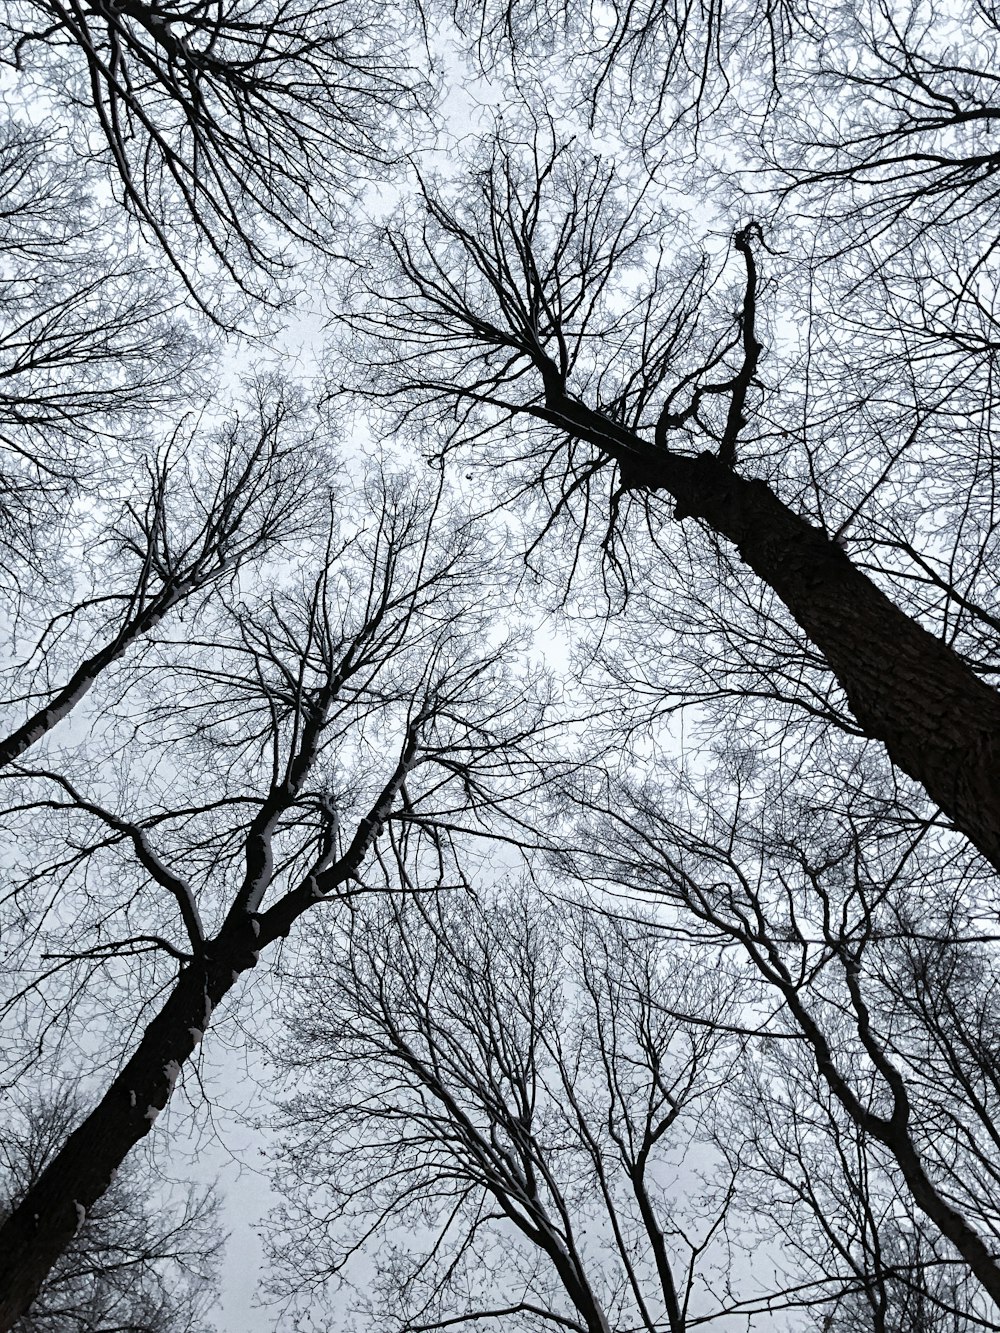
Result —
<svg viewBox="0 0 1000 1333"><path fill-rule="evenodd" d="M340 196L393 159L393 125L427 101L415 19L364 0L25 0L0 59L56 127L72 116L141 232L227 323L212 269L273 300L289 239L325 240Z"/></svg>

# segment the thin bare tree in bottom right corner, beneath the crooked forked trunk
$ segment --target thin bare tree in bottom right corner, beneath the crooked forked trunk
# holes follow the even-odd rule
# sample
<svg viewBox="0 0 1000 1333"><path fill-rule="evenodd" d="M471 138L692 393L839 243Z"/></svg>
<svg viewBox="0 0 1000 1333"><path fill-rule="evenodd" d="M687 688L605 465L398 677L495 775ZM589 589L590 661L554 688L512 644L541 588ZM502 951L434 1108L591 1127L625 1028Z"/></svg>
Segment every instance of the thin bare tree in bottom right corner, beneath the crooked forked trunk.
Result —
<svg viewBox="0 0 1000 1333"><path fill-rule="evenodd" d="M843 1049L849 1032L827 1021ZM807 1314L801 1326L995 1326L968 1266L920 1213L891 1154L844 1112L793 1024L772 1021L724 1100L720 1150L737 1157L744 1200L780 1234L771 1245Z"/></svg>

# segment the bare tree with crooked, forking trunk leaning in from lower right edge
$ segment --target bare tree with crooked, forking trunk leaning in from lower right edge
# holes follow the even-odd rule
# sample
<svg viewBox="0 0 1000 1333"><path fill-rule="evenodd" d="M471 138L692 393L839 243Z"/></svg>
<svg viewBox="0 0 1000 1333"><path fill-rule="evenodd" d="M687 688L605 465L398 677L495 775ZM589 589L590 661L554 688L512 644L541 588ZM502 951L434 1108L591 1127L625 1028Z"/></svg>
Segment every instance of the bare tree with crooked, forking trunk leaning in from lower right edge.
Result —
<svg viewBox="0 0 1000 1333"><path fill-rule="evenodd" d="M731 765L697 792L679 780L677 797L577 792L593 820L585 873L660 896L741 950L777 1002L775 1037L813 1070L820 1108L864 1136L945 1257L996 1301L989 886L947 836L883 817L877 769L859 774L847 808L839 793L825 810L796 789L783 800L768 776ZM825 1114L800 1098L780 1112L781 1133L796 1142Z"/></svg>

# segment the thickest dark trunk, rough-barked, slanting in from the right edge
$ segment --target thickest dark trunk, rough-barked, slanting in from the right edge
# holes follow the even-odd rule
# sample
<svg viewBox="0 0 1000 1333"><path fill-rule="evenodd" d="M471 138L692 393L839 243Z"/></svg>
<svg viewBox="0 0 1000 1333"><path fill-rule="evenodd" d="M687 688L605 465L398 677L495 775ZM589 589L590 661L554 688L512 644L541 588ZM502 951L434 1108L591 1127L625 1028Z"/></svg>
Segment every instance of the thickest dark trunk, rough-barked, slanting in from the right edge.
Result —
<svg viewBox="0 0 1000 1333"><path fill-rule="evenodd" d="M615 459L633 489L667 491L781 599L860 726L885 745L1000 870L1000 694L900 611L829 537L712 453L660 449L556 391L537 416Z"/></svg>

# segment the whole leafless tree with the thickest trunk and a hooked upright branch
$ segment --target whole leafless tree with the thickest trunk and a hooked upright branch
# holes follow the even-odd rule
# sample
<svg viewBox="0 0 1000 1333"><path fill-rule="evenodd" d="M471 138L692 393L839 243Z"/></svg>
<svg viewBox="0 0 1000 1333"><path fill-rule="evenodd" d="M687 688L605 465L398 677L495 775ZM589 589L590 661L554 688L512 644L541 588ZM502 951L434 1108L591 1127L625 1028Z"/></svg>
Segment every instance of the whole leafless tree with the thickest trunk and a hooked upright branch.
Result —
<svg viewBox="0 0 1000 1333"><path fill-rule="evenodd" d="M733 237L739 288L732 279L719 287L731 268L709 277L720 261L699 256L627 175L543 127L527 141L500 132L456 188L425 183L420 205L368 245L379 257L349 317L365 335L361 392L395 420L447 432L443 459L491 440L516 479L507 493L547 504L549 524L575 509L585 528L596 511L609 544L631 501L636 540L645 524L667 551L664 576L684 544L671 519L699 529L703 567L719 560L723 580L752 571L777 599L781 637L805 641L855 729L881 741L1000 865L996 692L955 636L893 603L888 571L844 549L864 495L852 503L848 485L815 512L809 465L815 475L823 421L815 428L809 412L819 405L800 400L797 421L761 407L775 392L761 380L767 252L755 224ZM853 420L840 403L841 436L867 420L880 383L876 373ZM843 392L841 377L829 411ZM900 427L897 452L913 445L908 464L929 485L939 435L921 435L921 423L932 413L920 399L911 411L888 380L885 395L883 429ZM948 480L936 475L940 488ZM877 472L867 489L879 489Z"/></svg>

